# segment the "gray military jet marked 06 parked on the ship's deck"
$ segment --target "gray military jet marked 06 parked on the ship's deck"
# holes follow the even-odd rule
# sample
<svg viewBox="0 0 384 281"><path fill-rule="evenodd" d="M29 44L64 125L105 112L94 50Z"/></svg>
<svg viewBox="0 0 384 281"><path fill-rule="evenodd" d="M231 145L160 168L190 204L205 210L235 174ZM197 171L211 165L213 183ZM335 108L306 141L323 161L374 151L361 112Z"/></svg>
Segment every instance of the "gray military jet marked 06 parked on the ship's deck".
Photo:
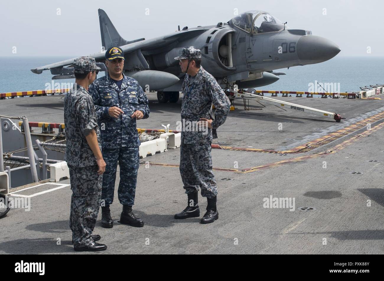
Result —
<svg viewBox="0 0 384 281"><path fill-rule="evenodd" d="M290 29L270 13L248 11L228 22L211 26L185 26L165 36L126 41L114 27L105 11L99 9L102 52L92 54L104 62L105 50L119 46L124 51L124 74L135 78L145 90L157 91L160 103L179 99L184 73L175 60L184 47L202 51L202 65L223 89L253 88L276 82L273 72L298 65L316 64L336 56L340 48L311 31ZM41 74L50 70L53 79L74 78L73 59L31 69ZM237 86L236 86L237 85ZM232 98L233 99L233 98Z"/></svg>

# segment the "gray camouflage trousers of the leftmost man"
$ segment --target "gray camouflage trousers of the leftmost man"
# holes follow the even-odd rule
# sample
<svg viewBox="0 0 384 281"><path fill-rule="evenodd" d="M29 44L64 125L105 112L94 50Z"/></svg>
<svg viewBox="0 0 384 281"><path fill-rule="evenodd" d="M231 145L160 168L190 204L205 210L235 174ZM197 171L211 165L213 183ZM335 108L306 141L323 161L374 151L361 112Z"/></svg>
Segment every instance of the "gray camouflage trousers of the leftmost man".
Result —
<svg viewBox="0 0 384 281"><path fill-rule="evenodd" d="M91 237L99 213L103 176L98 175L98 166L73 167L70 169L71 213L70 228L73 245L94 245Z"/></svg>

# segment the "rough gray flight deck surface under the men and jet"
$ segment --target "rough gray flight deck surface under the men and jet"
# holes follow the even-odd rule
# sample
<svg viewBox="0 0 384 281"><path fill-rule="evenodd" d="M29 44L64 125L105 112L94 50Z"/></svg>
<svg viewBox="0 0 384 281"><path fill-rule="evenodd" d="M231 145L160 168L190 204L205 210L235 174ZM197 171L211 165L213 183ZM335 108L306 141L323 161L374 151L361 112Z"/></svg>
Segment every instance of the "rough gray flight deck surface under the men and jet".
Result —
<svg viewBox="0 0 384 281"><path fill-rule="evenodd" d="M62 97L1 100L0 112L63 123ZM181 101L159 104L156 94L148 97L150 118L137 127L170 124L176 129ZM114 227L102 228L98 217L94 233L108 245L103 253L384 253L384 100L277 99L346 119L336 123L255 102L251 108L263 109L245 111L242 100L235 101L238 110L230 112L214 140L222 149L212 149L220 219L208 225L199 224L200 218L173 219L187 198L178 168L180 151L169 150L142 159L139 168L133 209L144 227L117 222L121 204L116 193ZM116 190L118 182L119 177ZM15 193L30 198L30 211L11 209L0 220L1 253L75 253L69 180L56 184ZM266 204L271 196L291 203L295 198L294 211L292 205ZM207 202L199 200L202 217Z"/></svg>

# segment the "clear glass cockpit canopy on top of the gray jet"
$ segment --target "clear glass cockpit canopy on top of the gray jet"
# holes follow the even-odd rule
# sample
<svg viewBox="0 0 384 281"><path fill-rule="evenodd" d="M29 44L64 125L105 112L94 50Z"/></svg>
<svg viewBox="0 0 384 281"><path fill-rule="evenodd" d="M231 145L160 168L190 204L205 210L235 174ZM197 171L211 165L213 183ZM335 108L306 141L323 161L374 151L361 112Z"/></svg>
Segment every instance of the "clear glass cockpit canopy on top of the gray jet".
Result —
<svg viewBox="0 0 384 281"><path fill-rule="evenodd" d="M232 22L233 25L251 34L276 32L284 28L281 21L265 11L248 11L233 18Z"/></svg>

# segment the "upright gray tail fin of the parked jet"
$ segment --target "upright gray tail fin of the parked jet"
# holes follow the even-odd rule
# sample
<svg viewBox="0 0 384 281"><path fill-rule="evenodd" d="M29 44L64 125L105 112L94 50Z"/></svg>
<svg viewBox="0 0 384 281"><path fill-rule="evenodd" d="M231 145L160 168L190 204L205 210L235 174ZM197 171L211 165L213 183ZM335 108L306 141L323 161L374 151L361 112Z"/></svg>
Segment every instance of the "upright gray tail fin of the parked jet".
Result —
<svg viewBox="0 0 384 281"><path fill-rule="evenodd" d="M100 33L101 33L101 44L107 50L112 46L123 46L129 44L129 41L124 40L116 28L114 27L112 21L109 19L107 13L104 10L99 9L99 22L100 22Z"/></svg>

